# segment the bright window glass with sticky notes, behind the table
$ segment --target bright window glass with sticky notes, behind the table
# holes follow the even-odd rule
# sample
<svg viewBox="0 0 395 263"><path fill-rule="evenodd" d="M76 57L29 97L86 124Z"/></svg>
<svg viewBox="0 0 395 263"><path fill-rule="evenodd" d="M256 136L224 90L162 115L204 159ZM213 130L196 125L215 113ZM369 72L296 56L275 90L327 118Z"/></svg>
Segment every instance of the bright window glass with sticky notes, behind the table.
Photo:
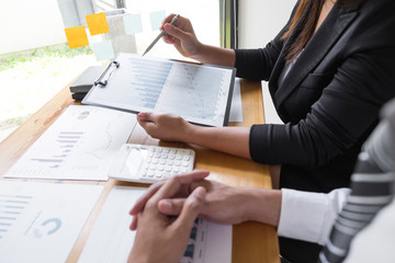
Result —
<svg viewBox="0 0 395 263"><path fill-rule="evenodd" d="M112 30L91 36L86 15L98 12L105 12ZM126 27L121 25L120 13L139 16L140 32L122 38ZM1 1L0 23L7 26L0 42L0 141L89 66L105 65L102 58L109 53L103 42L112 42L114 53L143 54L159 34L153 18L160 23L170 13L189 18L202 43L219 46L219 0ZM79 25L86 26L89 45L70 49L65 28ZM162 41L149 56L183 59Z"/></svg>

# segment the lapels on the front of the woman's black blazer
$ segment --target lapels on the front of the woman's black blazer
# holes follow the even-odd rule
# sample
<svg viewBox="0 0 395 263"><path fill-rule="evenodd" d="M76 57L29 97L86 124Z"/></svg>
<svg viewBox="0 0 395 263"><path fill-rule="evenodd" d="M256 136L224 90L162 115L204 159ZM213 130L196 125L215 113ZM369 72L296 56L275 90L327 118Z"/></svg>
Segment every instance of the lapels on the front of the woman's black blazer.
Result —
<svg viewBox="0 0 395 263"><path fill-rule="evenodd" d="M324 21L319 30L306 45L304 52L300 55L293 68L283 81L283 84L279 89L271 89L271 92L276 90L274 98L274 104L278 107L291 92L297 88L303 79L323 60L330 47L338 41L341 33L357 16L357 10L342 10L334 8ZM294 32L290 35L289 39L284 43L280 59L274 66L272 76L270 78L269 87L276 88L279 82L279 76L282 72L285 61L286 46L290 45L293 39L298 35L301 31L301 24L297 24Z"/></svg>

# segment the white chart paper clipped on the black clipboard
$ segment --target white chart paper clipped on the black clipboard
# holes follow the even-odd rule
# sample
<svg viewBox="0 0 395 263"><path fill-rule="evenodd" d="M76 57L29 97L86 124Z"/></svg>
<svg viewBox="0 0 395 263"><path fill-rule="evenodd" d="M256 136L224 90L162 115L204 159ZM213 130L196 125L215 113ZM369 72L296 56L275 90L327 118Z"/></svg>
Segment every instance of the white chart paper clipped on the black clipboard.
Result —
<svg viewBox="0 0 395 263"><path fill-rule="evenodd" d="M133 113L173 113L208 126L227 125L236 69L121 53L82 103Z"/></svg>

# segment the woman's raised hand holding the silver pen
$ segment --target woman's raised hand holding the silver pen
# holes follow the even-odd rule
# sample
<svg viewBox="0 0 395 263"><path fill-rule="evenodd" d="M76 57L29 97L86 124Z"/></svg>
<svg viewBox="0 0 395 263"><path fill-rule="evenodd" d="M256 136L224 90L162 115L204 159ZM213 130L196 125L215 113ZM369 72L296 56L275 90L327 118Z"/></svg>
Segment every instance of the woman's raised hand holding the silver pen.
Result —
<svg viewBox="0 0 395 263"><path fill-rule="evenodd" d="M182 56L193 58L199 54L202 44L198 41L189 19L179 15L176 24L170 24L174 15L170 14L165 19L160 30L165 30L167 34L162 38L166 43L174 45Z"/></svg>

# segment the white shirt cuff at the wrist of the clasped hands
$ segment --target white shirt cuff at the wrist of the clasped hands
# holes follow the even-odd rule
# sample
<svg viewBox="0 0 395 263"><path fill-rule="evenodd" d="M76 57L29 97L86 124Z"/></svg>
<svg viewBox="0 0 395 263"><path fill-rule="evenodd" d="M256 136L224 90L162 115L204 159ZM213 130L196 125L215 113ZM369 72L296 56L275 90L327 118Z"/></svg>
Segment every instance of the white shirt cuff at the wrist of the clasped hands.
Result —
<svg viewBox="0 0 395 263"><path fill-rule="evenodd" d="M279 236L323 245L349 194L350 188L328 194L282 188Z"/></svg>

